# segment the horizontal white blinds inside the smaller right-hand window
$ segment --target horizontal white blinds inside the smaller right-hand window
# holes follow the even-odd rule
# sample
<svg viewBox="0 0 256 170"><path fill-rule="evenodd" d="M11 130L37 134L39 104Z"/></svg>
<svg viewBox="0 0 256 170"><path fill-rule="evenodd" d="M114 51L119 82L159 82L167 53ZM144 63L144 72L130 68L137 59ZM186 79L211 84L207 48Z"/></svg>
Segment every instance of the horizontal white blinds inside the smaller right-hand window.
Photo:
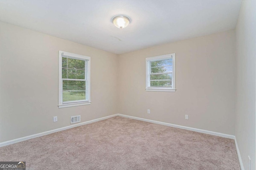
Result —
<svg viewBox="0 0 256 170"><path fill-rule="evenodd" d="M172 88L173 59L148 61L148 87Z"/></svg>

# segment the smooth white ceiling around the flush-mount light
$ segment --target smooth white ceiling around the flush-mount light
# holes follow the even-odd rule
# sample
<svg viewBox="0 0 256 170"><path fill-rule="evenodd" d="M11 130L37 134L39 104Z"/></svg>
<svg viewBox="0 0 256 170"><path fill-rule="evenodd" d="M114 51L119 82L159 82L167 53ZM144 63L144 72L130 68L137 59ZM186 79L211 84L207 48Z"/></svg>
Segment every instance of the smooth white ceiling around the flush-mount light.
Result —
<svg viewBox="0 0 256 170"><path fill-rule="evenodd" d="M240 0L0 0L0 20L115 54L234 29ZM131 23L115 27L111 18Z"/></svg>

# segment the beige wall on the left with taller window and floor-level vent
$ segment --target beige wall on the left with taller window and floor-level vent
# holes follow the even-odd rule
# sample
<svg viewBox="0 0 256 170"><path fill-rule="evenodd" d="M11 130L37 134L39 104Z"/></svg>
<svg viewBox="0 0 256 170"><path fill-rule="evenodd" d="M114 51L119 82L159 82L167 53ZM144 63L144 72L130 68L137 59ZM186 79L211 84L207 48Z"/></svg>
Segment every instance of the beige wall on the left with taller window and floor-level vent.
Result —
<svg viewBox="0 0 256 170"><path fill-rule="evenodd" d="M59 50L91 57L91 105L58 108ZM0 52L0 142L117 113L117 55L4 22Z"/></svg>

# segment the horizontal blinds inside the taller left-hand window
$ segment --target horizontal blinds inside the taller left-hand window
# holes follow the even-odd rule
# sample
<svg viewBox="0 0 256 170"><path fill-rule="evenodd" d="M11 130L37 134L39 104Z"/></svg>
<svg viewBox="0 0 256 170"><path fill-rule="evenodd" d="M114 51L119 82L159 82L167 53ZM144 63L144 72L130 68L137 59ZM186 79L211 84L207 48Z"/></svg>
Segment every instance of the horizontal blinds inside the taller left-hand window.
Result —
<svg viewBox="0 0 256 170"><path fill-rule="evenodd" d="M62 56L62 102L88 101L88 60Z"/></svg>

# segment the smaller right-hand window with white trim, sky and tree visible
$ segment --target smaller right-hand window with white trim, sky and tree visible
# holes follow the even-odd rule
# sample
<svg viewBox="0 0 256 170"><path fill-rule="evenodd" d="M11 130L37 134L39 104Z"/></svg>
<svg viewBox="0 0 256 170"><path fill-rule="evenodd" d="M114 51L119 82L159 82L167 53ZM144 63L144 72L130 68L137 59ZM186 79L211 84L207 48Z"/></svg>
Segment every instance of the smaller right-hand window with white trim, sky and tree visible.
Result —
<svg viewBox="0 0 256 170"><path fill-rule="evenodd" d="M146 91L175 90L175 54L146 58Z"/></svg>

